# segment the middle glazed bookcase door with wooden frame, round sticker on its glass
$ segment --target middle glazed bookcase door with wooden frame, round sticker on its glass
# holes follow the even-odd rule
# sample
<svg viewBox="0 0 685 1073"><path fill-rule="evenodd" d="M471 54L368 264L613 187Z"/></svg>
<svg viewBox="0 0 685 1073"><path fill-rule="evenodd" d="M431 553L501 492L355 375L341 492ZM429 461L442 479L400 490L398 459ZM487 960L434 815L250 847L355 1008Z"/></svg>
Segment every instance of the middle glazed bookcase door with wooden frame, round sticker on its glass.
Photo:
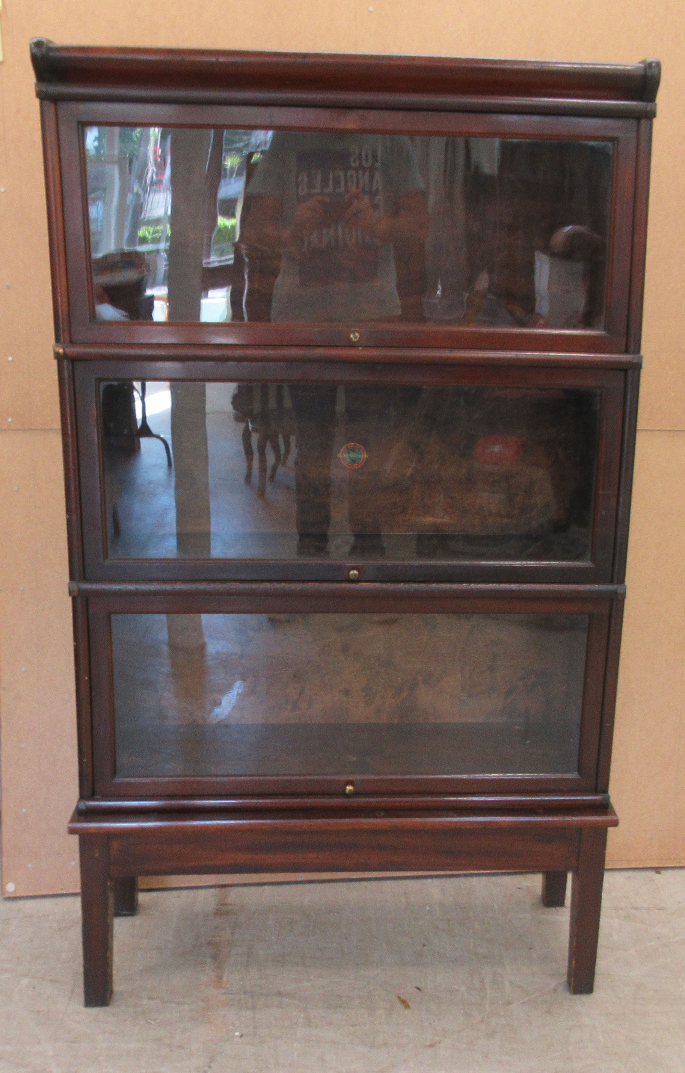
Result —
<svg viewBox="0 0 685 1073"><path fill-rule="evenodd" d="M608 582L625 378L78 363L86 575Z"/></svg>

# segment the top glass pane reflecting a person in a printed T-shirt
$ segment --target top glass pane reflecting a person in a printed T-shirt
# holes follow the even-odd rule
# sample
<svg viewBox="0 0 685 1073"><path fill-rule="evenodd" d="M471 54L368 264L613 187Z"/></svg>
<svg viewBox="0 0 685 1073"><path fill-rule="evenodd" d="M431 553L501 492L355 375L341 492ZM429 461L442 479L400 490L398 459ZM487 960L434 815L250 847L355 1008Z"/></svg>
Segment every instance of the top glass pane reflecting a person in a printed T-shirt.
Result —
<svg viewBox="0 0 685 1073"><path fill-rule="evenodd" d="M604 323L612 144L86 127L98 320Z"/></svg>

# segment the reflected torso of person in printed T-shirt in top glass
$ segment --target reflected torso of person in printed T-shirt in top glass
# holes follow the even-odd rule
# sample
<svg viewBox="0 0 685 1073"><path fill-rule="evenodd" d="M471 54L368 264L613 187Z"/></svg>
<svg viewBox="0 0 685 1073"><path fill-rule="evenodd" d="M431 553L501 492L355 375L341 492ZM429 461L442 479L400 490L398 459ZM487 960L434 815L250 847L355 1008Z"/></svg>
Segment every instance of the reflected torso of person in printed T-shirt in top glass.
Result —
<svg viewBox="0 0 685 1073"><path fill-rule="evenodd" d="M246 195L242 242L280 253L272 321L413 319L398 276L413 251L420 306L428 211L408 137L276 132Z"/></svg>

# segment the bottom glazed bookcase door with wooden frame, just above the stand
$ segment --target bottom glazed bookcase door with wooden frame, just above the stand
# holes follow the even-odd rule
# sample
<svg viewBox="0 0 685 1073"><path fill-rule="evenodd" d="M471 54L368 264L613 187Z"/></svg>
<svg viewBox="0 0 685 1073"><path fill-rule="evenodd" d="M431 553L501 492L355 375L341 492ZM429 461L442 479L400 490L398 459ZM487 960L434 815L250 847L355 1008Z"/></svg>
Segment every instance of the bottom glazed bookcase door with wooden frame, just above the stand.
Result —
<svg viewBox="0 0 685 1073"><path fill-rule="evenodd" d="M606 596L374 590L92 597L96 793L595 790Z"/></svg>

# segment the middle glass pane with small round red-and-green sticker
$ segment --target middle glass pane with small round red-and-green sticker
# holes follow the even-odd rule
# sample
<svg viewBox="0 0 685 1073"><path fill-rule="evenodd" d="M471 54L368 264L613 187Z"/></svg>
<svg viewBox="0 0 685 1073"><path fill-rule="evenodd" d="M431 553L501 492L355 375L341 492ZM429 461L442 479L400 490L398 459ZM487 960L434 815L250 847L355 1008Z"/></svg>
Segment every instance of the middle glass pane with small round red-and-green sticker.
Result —
<svg viewBox="0 0 685 1073"><path fill-rule="evenodd" d="M104 383L108 554L587 559L599 396Z"/></svg>

